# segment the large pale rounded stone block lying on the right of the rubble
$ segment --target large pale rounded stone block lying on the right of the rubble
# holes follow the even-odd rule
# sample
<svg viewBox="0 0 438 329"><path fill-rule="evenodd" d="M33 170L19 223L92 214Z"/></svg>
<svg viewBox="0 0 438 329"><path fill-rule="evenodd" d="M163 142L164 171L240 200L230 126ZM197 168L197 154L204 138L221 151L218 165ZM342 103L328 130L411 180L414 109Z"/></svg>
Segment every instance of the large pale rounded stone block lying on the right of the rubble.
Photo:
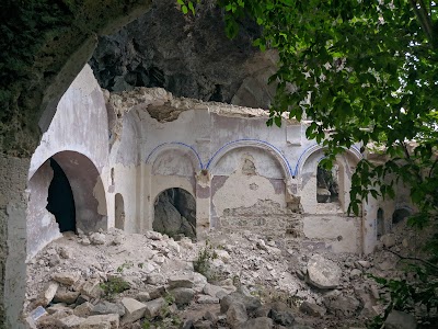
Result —
<svg viewBox="0 0 438 329"><path fill-rule="evenodd" d="M339 285L341 268L320 254L314 254L308 262L308 282L319 288L330 290Z"/></svg>

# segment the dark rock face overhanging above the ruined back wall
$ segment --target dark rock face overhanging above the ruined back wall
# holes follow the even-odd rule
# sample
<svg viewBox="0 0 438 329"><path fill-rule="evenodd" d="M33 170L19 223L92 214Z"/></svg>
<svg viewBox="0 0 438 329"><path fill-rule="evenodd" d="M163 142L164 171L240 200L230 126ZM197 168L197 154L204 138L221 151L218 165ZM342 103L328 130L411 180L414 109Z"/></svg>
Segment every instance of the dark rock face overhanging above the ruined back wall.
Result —
<svg viewBox="0 0 438 329"><path fill-rule="evenodd" d="M155 0L147 14L100 38L90 61L100 84L110 91L162 87L177 97L266 107L273 59L252 46L258 26L242 22L231 41L216 1L198 4L195 18L175 3Z"/></svg>

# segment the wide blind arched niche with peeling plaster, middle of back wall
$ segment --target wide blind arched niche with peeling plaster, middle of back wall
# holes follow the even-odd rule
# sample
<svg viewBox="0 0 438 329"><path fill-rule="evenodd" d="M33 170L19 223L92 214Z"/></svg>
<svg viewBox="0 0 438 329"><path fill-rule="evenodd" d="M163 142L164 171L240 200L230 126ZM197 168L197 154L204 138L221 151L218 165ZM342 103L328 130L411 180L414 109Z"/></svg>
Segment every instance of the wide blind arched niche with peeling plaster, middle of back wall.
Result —
<svg viewBox="0 0 438 329"><path fill-rule="evenodd" d="M286 160L270 147L254 143L222 150L209 162L210 226L286 232Z"/></svg>

